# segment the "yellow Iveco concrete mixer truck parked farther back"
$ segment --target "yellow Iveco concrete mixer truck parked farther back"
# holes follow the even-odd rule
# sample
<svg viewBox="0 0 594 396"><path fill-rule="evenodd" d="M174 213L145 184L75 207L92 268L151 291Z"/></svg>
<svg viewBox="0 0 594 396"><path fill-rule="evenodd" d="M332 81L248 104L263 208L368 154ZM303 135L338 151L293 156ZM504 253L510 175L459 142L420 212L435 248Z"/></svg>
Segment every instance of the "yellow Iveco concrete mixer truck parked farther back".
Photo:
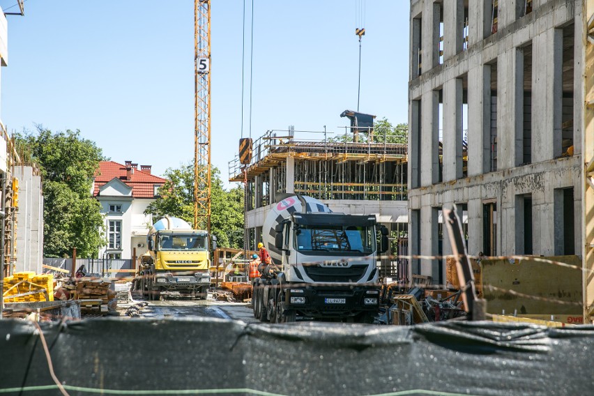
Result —
<svg viewBox="0 0 594 396"><path fill-rule="evenodd" d="M216 249L216 236L211 236ZM165 216L148 231L148 252L139 258L135 291L158 300L162 291L206 299L211 284L209 238L180 218Z"/></svg>

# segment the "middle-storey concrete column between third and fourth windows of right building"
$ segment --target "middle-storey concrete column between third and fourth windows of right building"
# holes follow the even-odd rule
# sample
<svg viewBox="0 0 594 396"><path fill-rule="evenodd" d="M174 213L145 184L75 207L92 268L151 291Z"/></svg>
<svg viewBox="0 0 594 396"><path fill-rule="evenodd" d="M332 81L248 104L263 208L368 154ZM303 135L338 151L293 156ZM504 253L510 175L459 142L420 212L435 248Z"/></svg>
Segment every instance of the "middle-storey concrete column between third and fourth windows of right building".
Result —
<svg viewBox="0 0 594 396"><path fill-rule="evenodd" d="M468 84L468 175L489 172L491 137L491 66L480 65L469 70Z"/></svg>

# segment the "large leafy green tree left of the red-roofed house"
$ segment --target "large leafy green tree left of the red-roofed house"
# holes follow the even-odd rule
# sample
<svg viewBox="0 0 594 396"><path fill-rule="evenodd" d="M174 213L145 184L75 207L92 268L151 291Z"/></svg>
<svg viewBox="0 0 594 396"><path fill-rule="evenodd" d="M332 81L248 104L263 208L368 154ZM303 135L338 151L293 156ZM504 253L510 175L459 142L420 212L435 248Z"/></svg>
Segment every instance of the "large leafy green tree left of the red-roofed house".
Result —
<svg viewBox="0 0 594 396"><path fill-rule="evenodd" d="M37 125L37 133L17 135L17 151L25 162L36 162L43 182L43 240L45 257L97 257L105 245L101 206L89 192L104 160L95 142L79 130L53 133Z"/></svg>

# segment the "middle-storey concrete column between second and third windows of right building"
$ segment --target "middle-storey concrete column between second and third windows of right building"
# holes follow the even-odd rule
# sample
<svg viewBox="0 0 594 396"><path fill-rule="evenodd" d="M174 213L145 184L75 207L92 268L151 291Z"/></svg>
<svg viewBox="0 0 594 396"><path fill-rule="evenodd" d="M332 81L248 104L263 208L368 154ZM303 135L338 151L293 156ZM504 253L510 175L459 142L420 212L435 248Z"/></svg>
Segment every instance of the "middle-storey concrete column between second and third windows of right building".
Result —
<svg viewBox="0 0 594 396"><path fill-rule="evenodd" d="M462 79L443 85L443 181L462 177Z"/></svg>

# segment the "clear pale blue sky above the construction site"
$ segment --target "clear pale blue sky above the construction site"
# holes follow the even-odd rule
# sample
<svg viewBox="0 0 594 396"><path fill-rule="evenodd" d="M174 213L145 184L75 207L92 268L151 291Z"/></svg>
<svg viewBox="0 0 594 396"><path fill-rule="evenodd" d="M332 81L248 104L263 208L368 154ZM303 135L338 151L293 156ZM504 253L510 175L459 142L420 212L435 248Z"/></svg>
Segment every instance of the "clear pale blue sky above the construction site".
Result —
<svg viewBox="0 0 594 396"><path fill-rule="evenodd" d="M4 9L15 3L0 0ZM226 184L242 135L243 3L212 1L211 151ZM26 0L24 8L24 17L7 17L0 117L9 132L79 129L110 159L153 165L159 175L192 160L194 1ZM348 124L340 113L357 106L357 20L366 29L360 111L407 121L409 1L254 0L252 138L288 125L338 132Z"/></svg>

